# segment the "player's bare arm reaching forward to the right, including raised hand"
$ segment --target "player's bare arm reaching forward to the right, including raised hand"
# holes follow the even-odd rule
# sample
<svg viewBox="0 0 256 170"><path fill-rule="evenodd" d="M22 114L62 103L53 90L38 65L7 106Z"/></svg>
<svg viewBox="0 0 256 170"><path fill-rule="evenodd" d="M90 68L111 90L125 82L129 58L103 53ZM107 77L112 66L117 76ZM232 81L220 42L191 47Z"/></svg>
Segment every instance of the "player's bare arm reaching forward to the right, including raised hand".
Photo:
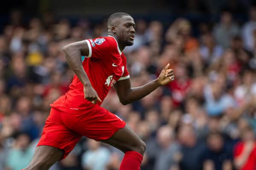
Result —
<svg viewBox="0 0 256 170"><path fill-rule="evenodd" d="M173 81L174 80L173 70L169 69L169 66L170 65L168 64L166 65L165 68L163 68L163 70L161 71L157 79L154 79L153 81L148 82L147 84L140 87L131 88L131 81L129 78L117 81L114 87L116 89L116 93L119 97L120 102L123 105L127 105L129 103L135 102L147 96L156 88L162 85L166 85L169 82Z"/></svg>

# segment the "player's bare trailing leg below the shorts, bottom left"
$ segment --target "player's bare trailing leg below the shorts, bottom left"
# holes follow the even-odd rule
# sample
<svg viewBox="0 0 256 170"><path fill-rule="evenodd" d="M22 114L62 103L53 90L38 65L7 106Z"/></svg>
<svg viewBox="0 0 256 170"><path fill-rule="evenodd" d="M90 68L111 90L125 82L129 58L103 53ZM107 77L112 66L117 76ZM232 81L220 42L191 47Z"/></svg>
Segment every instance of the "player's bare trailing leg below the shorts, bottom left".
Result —
<svg viewBox="0 0 256 170"><path fill-rule="evenodd" d="M31 163L24 170L48 170L61 159L64 151L51 146L38 146Z"/></svg>

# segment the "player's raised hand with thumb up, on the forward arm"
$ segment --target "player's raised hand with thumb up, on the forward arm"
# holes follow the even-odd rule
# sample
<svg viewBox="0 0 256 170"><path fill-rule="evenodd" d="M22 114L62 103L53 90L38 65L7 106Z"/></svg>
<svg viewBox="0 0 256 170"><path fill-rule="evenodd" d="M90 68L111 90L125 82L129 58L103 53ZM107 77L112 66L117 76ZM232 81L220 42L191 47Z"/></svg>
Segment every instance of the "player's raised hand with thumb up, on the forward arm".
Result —
<svg viewBox="0 0 256 170"><path fill-rule="evenodd" d="M160 85L166 85L174 80L174 73L172 69L169 69L170 64L168 63L165 68L161 71L158 82Z"/></svg>

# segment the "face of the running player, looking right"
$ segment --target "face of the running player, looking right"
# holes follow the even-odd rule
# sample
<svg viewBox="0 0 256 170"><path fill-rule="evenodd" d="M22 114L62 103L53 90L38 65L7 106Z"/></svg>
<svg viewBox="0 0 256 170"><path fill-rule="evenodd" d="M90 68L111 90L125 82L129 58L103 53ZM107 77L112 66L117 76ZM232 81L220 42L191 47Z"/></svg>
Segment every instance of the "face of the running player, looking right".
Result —
<svg viewBox="0 0 256 170"><path fill-rule="evenodd" d="M123 16L116 27L116 36L125 46L133 45L135 37L135 23L131 16Z"/></svg>

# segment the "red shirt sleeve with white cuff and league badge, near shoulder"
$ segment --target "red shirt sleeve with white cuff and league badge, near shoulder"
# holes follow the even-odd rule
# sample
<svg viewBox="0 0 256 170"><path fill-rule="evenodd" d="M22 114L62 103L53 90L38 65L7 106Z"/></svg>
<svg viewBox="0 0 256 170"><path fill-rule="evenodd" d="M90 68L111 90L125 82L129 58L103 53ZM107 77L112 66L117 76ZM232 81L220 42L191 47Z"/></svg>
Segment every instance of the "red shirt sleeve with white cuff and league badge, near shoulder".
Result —
<svg viewBox="0 0 256 170"><path fill-rule="evenodd" d="M104 54L112 54L113 49L116 48L113 41L110 41L107 37L99 37L93 40L87 39L85 41L89 47L89 55L86 58L103 59Z"/></svg>

